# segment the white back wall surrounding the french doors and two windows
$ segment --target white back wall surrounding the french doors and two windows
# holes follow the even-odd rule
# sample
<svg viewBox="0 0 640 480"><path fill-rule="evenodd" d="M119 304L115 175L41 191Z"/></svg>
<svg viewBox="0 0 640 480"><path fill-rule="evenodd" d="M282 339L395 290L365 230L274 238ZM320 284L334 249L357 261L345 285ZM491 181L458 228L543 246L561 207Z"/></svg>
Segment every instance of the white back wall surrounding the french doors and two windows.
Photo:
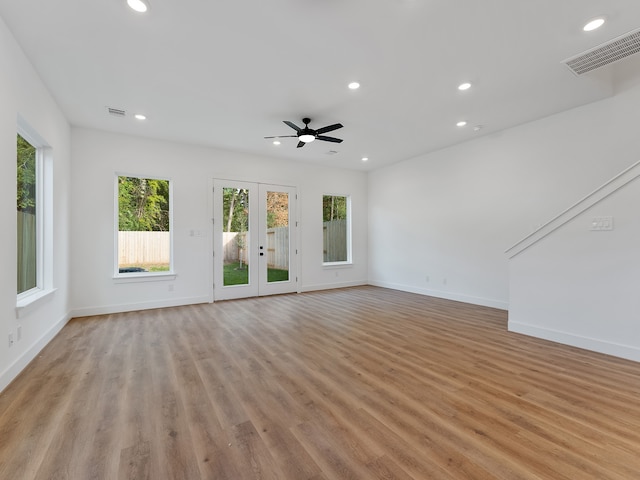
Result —
<svg viewBox="0 0 640 480"><path fill-rule="evenodd" d="M73 251L75 315L91 315L211 299L213 178L297 187L300 290L367 282L367 177L213 148L149 140L96 130L72 129ZM114 283L114 176L127 173L173 182L174 267L167 282ZM322 267L322 195L352 196L353 265ZM190 230L206 232L189 236Z"/></svg>

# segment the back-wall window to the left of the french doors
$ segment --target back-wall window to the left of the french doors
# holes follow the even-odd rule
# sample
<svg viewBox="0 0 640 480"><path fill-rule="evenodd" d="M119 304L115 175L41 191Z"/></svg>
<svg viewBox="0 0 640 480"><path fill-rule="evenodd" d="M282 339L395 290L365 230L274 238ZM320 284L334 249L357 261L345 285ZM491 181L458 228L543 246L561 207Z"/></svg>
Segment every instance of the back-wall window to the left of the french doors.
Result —
<svg viewBox="0 0 640 480"><path fill-rule="evenodd" d="M116 180L117 275L173 271L169 180L134 176Z"/></svg>

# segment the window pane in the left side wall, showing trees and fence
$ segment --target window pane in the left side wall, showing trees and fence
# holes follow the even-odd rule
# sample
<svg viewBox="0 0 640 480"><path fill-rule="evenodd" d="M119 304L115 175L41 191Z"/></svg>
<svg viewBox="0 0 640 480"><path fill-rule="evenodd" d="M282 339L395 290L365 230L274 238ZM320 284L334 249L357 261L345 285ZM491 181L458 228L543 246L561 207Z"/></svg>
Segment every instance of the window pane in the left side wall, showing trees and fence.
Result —
<svg viewBox="0 0 640 480"><path fill-rule="evenodd" d="M36 147L17 136L18 293L37 287Z"/></svg>

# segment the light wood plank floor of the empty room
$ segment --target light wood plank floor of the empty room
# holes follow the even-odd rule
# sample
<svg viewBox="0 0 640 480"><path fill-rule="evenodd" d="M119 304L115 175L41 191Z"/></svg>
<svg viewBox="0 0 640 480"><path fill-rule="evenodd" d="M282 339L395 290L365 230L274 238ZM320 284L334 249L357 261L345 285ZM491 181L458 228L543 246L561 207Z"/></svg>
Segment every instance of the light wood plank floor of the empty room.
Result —
<svg viewBox="0 0 640 480"><path fill-rule="evenodd" d="M375 287L72 320L0 395L0 478L640 478L640 364Z"/></svg>

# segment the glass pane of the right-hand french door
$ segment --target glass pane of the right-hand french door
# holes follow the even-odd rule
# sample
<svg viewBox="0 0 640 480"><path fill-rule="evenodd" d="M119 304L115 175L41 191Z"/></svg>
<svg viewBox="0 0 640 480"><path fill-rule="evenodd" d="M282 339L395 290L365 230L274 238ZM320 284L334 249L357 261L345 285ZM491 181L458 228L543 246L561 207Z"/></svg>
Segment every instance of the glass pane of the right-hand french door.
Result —
<svg viewBox="0 0 640 480"><path fill-rule="evenodd" d="M289 280L289 194L267 192L267 282Z"/></svg>

